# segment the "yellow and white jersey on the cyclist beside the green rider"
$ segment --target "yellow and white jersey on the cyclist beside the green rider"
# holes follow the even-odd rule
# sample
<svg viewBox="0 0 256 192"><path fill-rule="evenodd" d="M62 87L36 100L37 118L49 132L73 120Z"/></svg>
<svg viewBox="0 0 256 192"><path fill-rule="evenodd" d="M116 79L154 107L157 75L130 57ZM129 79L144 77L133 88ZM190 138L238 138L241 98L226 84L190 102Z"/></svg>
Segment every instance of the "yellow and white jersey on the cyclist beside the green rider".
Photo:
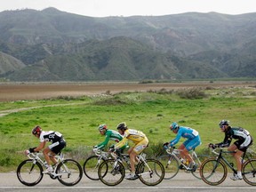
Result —
<svg viewBox="0 0 256 192"><path fill-rule="evenodd" d="M143 132L137 131L137 130L132 130L132 129L127 129L124 131L124 139L118 142L115 145L115 148L122 148L125 143L127 143L128 140L132 140L132 142L137 145L140 143L142 140L148 140L146 135ZM148 143L147 143L148 145Z"/></svg>

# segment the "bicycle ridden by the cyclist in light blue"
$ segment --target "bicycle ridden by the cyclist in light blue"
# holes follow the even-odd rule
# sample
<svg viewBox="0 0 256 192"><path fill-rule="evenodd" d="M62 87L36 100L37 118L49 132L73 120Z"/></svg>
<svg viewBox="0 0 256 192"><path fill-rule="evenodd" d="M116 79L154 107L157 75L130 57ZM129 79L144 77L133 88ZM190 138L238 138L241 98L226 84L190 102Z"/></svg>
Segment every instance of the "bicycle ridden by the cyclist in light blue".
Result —
<svg viewBox="0 0 256 192"><path fill-rule="evenodd" d="M188 162L186 162L183 158L180 157L180 149L176 149L174 147L172 148L166 148L166 153L162 156L159 156L157 159L164 164L165 168L165 174L164 174L164 180L171 180L173 177L175 177L180 169L184 170L184 172L192 173L193 176L195 176L197 179L201 179L200 173L199 173L199 167L201 165L201 161L199 157L196 155L195 150L189 151L190 155L192 156L192 159L196 163L196 169L191 169L189 167Z"/></svg>

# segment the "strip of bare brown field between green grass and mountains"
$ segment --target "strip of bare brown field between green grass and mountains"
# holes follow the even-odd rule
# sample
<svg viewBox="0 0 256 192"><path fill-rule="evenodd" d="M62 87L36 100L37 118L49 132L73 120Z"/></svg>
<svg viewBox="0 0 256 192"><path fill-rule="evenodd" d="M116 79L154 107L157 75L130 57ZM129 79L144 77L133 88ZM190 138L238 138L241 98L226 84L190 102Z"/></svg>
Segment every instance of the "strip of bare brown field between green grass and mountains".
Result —
<svg viewBox="0 0 256 192"><path fill-rule="evenodd" d="M138 83L74 83L74 84L0 84L0 102L14 100L41 100L59 96L83 96L105 92L147 92L149 90L173 90L191 87L225 88L230 86L255 86L255 82L188 82L172 84Z"/></svg>

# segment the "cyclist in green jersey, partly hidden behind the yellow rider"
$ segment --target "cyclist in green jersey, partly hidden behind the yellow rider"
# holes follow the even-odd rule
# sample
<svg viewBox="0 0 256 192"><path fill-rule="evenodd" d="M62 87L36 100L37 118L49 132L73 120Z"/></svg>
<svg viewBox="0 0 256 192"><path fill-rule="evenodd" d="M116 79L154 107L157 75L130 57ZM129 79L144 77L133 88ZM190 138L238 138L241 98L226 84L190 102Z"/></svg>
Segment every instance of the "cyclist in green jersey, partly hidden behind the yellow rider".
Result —
<svg viewBox="0 0 256 192"><path fill-rule="evenodd" d="M105 135L105 140L100 144L94 146L93 150L98 150L98 149L102 150L108 145L109 140L115 140L116 142L123 140L123 136L119 132L116 132L114 130L108 130L107 124L100 124L98 129L102 136ZM123 148L120 148L122 153L124 151L124 148L126 147L127 147L127 143L126 145L124 145Z"/></svg>

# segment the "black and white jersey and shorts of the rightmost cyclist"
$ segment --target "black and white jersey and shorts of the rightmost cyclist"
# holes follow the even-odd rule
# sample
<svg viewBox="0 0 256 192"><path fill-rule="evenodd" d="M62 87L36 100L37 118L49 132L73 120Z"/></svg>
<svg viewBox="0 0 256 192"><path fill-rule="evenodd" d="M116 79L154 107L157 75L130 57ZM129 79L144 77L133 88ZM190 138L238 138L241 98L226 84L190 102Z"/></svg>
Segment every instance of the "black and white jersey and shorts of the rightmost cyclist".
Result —
<svg viewBox="0 0 256 192"><path fill-rule="evenodd" d="M228 148L232 139L235 139L236 142L234 143L237 148L239 149L246 149L252 144L252 137L250 132L244 130L241 127L230 127L228 126L227 132L225 132L225 138L222 142L217 143L216 145L219 148Z"/></svg>

